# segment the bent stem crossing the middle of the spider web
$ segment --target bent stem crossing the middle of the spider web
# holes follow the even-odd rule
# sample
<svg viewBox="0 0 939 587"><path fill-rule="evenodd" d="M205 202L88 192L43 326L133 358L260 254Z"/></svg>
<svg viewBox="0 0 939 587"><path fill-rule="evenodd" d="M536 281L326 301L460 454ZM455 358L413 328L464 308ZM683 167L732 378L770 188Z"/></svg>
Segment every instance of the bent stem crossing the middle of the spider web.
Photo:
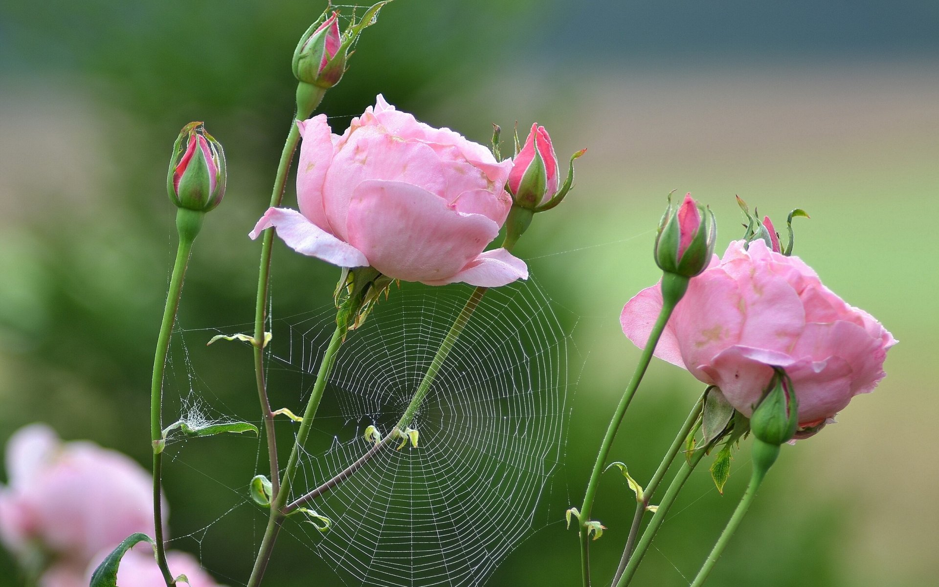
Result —
<svg viewBox="0 0 939 587"><path fill-rule="evenodd" d="M426 372L423 374L421 383L418 384L417 390L414 392L414 396L411 398L410 403L408 403L408 408L405 410L405 413L402 414L401 418L398 420L398 423L394 426L390 433L386 434L381 442L375 444L375 446L370 448L368 452L362 455L362 457L346 467L346 469L341 471L339 474L333 476L329 481L303 495L300 497L300 499L294 501L293 503L288 504L284 508L285 514L289 514L301 505L309 504L320 495L326 493L330 489L345 481L356 471L362 469L362 466L364 466L366 462L372 459L378 453L378 451L384 448L387 444L391 444L395 438L395 430L404 432L404 430L408 428L411 420L414 418L414 414L416 414L417 411L421 408L421 403L426 397L427 392L430 390L431 384L433 384L434 380L437 378L437 373L439 372L440 367L443 365L443 362L447 359L447 356L453 350L456 339L459 338L460 334L463 332L463 329L466 328L467 323L469 323L469 317L472 315L473 311L475 311L476 307L479 306L480 300L483 299L485 291L485 287L477 287L475 290L473 290L473 293L469 296L469 300L467 300L466 305L462 310L460 310L460 313L456 316L456 320L454 320L454 324L450 327L450 330L447 331L446 336L444 336L443 341L440 343L437 354L434 354L434 358L431 360L430 367L428 367Z"/></svg>

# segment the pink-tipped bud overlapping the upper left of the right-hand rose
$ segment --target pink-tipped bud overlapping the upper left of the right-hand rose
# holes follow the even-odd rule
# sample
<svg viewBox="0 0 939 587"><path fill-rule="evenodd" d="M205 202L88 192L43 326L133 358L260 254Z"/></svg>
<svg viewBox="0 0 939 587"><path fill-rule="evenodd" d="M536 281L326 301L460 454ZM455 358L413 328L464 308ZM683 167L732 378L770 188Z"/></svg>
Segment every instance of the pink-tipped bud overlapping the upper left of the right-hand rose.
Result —
<svg viewBox="0 0 939 587"><path fill-rule="evenodd" d="M695 202L690 193L677 208L669 198L655 238L655 263L666 273L693 278L711 262L716 238L717 225L710 208Z"/></svg>

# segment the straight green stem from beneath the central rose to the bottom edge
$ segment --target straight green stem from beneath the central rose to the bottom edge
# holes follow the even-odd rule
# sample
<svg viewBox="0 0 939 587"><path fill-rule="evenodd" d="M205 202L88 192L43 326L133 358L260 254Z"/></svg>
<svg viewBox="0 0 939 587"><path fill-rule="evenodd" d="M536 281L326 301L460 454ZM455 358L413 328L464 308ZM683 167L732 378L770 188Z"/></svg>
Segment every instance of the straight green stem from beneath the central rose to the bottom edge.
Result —
<svg viewBox="0 0 939 587"><path fill-rule="evenodd" d="M287 497L290 495L290 485L293 481L293 475L300 464L300 451L306 444L306 437L310 434L310 428L313 425L313 419L316 416L316 409L319 407L319 401L323 398L323 392L326 389L326 382L330 378L332 365L336 360L336 351L339 350L343 339L348 332L349 308L353 306L351 298L346 300L336 314L336 329L332 333L329 345L326 347L326 353L323 354L323 360L319 364L319 371L316 373L316 383L313 385L313 391L310 399L307 400L306 410L303 412L303 420L300 422L300 428L297 429L297 440L294 442L293 449L290 451L290 459L287 460L287 466L284 470L284 479L281 483L280 491L270 503L270 517L268 527L265 530L264 538L261 540L261 547L258 549L257 559L254 561L254 569L251 572L251 578L248 579L248 587L257 587L261 584L264 577L264 571L268 566L270 553L274 548L274 542L277 540L277 534L280 531L281 524L285 519L284 506Z"/></svg>

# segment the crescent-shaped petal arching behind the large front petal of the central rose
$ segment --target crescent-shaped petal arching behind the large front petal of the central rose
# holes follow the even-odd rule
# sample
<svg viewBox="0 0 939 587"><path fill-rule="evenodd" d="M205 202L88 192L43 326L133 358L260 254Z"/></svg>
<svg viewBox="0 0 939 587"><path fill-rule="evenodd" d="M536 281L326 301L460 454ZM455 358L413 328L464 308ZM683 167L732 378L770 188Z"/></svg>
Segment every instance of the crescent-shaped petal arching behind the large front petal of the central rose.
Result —
<svg viewBox="0 0 939 587"><path fill-rule="evenodd" d="M332 158L323 184L326 218L339 238L349 241L348 207L356 188L375 179L408 183L439 198L447 191L440 158L429 146L401 141L381 127L360 128Z"/></svg>

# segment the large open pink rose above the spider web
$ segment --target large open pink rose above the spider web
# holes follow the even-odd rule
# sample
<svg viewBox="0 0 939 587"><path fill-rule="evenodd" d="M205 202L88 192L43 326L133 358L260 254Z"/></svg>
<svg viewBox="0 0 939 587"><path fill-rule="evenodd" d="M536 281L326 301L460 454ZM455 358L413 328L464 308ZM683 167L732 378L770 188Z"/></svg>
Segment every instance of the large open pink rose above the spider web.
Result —
<svg viewBox="0 0 939 587"><path fill-rule="evenodd" d="M483 252L512 206L512 161L381 96L342 136L331 134L325 114L298 125L300 212L270 208L252 238L273 226L304 255L429 285L496 287L528 277L504 248Z"/></svg>

